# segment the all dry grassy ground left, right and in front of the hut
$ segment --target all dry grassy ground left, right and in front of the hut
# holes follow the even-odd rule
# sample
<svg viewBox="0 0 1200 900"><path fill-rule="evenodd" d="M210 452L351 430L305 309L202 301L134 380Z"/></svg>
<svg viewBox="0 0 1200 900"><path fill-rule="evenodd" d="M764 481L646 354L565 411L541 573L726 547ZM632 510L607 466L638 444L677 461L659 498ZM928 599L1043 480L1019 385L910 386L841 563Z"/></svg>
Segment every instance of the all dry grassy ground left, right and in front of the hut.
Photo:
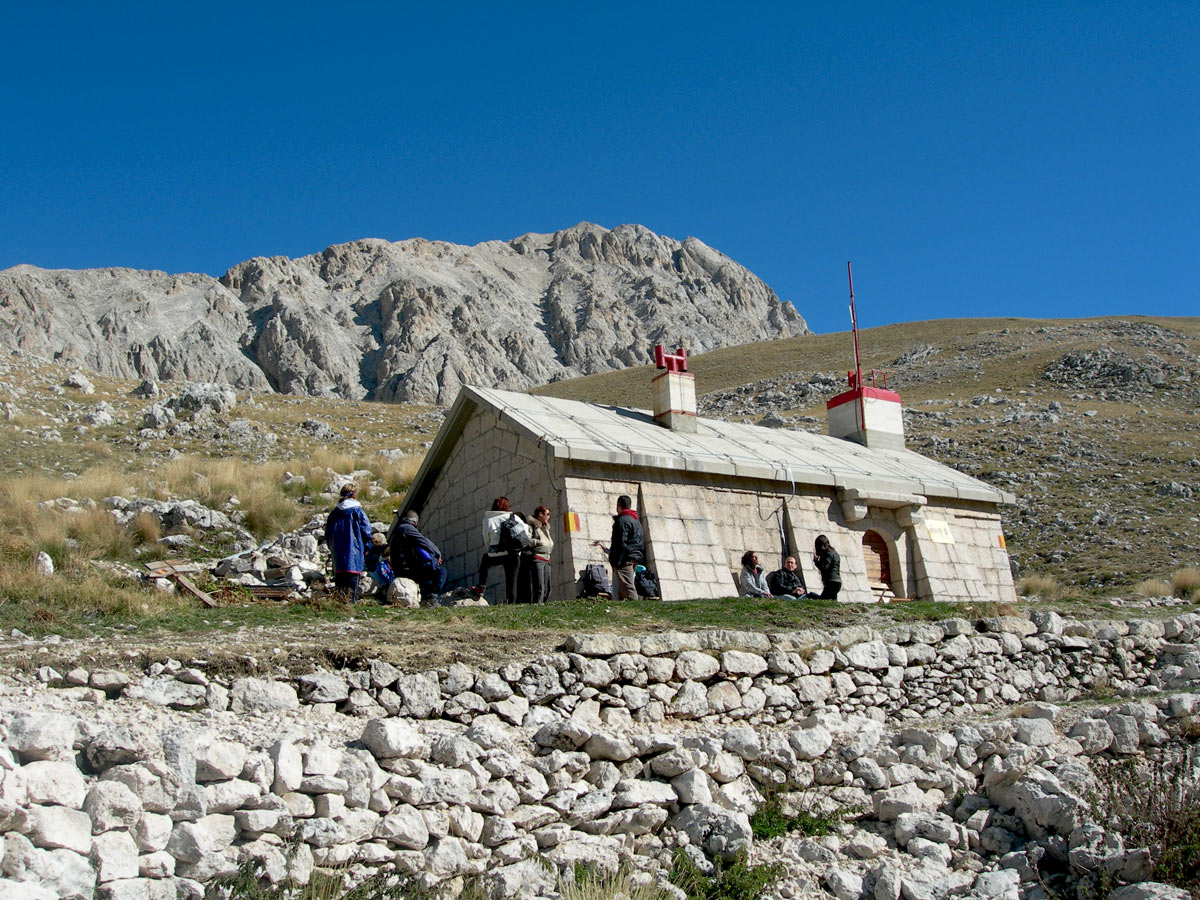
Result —
<svg viewBox="0 0 1200 900"><path fill-rule="evenodd" d="M1100 608L1097 601L1114 596L1166 594L1172 575L1200 565L1200 318L919 322L868 329L860 342L864 367L886 370L889 386L904 397L911 449L1018 497L1003 510L1008 546L1018 575L1043 599L1057 595L1091 614ZM824 428L824 401L842 389L851 365L845 332L690 361L703 414L772 416L810 431ZM652 371L581 378L540 392L646 408ZM355 624L346 610L247 606L245 598L214 614L186 596L139 587L122 575L128 566L180 553L211 559L230 546L194 533L193 546L173 551L158 542L162 534L151 522L115 526L96 508L103 498L196 499L236 515L263 540L323 514L332 480L355 473L367 486L368 511L385 520L442 410L244 395L206 426L146 430L151 404L182 385L163 384L164 396L155 401L134 396L132 382L96 377L95 392L86 394L66 385L67 376L32 358L0 360L5 631L91 634L90 652L121 646L130 659L154 655L133 637L151 631L161 636L155 652L178 647L187 655L205 638L182 635L222 630L230 659L239 656L235 647L253 644L263 632L276 656L282 643L298 660L312 649L336 664L346 654L378 650L372 642L384 640L412 659L474 659L545 647L565 629L616 622L607 608L556 604L535 614L373 608ZM40 552L55 564L49 578L35 571ZM680 606L667 619L641 607L624 612L622 626L635 630L689 622L787 628L876 614L764 607L730 618L727 604ZM46 659L22 647L10 648L22 665Z"/></svg>

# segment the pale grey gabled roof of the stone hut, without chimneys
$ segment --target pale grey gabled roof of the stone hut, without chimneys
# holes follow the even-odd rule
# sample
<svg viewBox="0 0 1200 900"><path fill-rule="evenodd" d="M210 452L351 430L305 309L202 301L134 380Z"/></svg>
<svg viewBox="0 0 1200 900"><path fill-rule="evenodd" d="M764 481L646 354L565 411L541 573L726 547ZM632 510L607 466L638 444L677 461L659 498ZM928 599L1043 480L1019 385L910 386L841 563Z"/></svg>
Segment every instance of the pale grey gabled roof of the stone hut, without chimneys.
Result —
<svg viewBox="0 0 1200 900"><path fill-rule="evenodd" d="M697 419L696 432L685 433L662 427L644 409L464 386L404 497L404 509L422 505L476 408L491 409L560 460L821 485L864 497L1015 500L1006 491L911 450L880 450L827 434L718 419Z"/></svg>

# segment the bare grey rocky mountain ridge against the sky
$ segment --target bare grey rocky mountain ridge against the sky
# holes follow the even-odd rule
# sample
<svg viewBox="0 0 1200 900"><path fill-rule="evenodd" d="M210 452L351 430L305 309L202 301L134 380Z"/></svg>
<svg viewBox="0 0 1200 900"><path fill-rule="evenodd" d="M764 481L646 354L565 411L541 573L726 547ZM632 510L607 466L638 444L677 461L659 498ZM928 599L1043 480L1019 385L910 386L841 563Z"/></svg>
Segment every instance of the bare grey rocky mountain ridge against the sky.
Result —
<svg viewBox="0 0 1200 900"><path fill-rule="evenodd" d="M750 271L695 238L580 223L472 247L366 239L220 280L134 269L0 271L0 346L94 372L240 390L449 403L809 334Z"/></svg>

